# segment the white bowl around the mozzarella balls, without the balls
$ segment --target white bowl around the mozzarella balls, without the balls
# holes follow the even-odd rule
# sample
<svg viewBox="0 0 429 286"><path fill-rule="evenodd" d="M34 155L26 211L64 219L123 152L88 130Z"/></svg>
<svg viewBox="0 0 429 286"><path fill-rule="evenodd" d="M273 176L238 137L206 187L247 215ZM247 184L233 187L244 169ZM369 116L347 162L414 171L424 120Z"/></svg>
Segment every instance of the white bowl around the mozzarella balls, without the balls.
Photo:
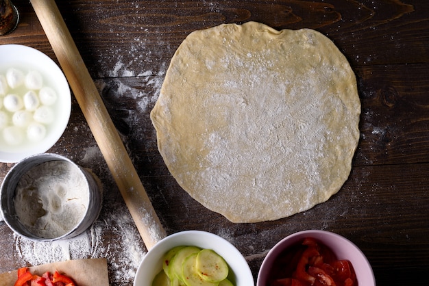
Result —
<svg viewBox="0 0 429 286"><path fill-rule="evenodd" d="M54 120L47 125L46 135L42 140L32 142L31 144L10 144L8 146L3 140L3 133L0 132L0 140L3 140L3 142L0 141L0 161L5 163L14 163L25 157L44 153L49 150L60 139L62 133L64 133L71 114L69 83L62 70L50 57L36 49L20 44L0 45L0 74L5 76L5 73L10 68L19 68L25 74L29 73L30 70L36 70L42 75L44 86L53 88L56 91L58 99L56 103L51 105ZM21 92L20 89L23 92L27 91L27 88L17 88L18 92ZM16 90L11 88L10 90L11 93L16 92ZM36 90L37 92L38 90ZM2 101L4 96L0 96ZM3 107L2 111L5 112ZM12 115L10 114L9 116L11 117ZM10 125L13 124L10 123Z"/></svg>

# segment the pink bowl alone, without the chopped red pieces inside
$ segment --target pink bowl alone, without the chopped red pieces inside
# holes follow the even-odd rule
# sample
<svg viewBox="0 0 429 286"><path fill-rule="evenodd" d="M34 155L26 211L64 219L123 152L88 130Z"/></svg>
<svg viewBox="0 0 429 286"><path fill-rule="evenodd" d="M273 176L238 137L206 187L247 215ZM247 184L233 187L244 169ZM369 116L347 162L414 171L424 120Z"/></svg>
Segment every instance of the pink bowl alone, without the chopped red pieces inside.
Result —
<svg viewBox="0 0 429 286"><path fill-rule="evenodd" d="M286 248L296 245L299 242L302 242L302 239L306 237L312 237L317 239L319 242L328 246L336 255L336 258L347 259L352 263L354 272L356 272L356 278L359 286L375 286L376 279L371 268L371 265L368 262L367 257L363 252L350 240L337 235L336 233L331 233L329 231L300 231L294 233L282 239L278 244L275 244L273 248L268 252L267 257L262 261L260 266L258 280L256 286L269 286L267 281L269 281L270 270L274 261L277 259Z"/></svg>

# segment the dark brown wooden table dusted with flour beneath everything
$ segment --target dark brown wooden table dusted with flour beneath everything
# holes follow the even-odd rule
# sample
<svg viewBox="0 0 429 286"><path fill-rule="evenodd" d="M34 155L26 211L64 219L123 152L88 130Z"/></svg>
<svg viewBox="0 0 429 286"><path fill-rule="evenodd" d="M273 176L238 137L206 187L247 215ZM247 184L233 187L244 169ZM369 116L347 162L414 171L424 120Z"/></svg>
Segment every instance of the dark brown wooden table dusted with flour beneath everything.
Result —
<svg viewBox="0 0 429 286"><path fill-rule="evenodd" d="M363 250L378 285L429 285L429 2L57 2L167 233L198 229L225 237L256 278L280 239L323 229ZM25 44L56 60L29 1L14 3L21 21L0 44ZM362 115L352 172L338 194L282 220L232 224L171 177L149 112L175 49L191 31L247 21L275 29L308 27L332 39L356 73ZM56 243L31 242L0 223L0 272L107 257L111 285L132 285L146 248L74 99L69 127L49 152L97 174L105 192L101 214L84 235ZM11 167L0 165L1 179Z"/></svg>

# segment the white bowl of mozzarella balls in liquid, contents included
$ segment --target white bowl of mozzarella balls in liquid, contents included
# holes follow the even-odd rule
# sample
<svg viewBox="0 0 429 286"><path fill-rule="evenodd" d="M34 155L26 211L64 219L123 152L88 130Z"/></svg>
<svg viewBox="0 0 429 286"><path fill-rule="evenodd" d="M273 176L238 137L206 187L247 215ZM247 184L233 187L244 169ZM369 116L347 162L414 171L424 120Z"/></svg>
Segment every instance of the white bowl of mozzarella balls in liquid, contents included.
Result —
<svg viewBox="0 0 429 286"><path fill-rule="evenodd" d="M69 123L71 92L50 57L0 45L0 161L17 162L56 144Z"/></svg>

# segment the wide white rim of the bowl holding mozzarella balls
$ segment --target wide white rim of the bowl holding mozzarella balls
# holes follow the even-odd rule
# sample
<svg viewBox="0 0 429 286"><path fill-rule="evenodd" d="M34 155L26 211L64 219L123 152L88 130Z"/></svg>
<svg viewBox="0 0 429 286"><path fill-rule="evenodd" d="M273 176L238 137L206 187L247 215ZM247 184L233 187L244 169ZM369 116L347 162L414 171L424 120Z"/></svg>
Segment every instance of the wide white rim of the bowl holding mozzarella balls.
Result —
<svg viewBox="0 0 429 286"><path fill-rule="evenodd" d="M12 53L13 51L13 53ZM54 82L56 89L59 87L60 96L62 97L61 105L61 118L57 119L55 125L55 132L47 134L47 136L40 142L32 144L32 147L25 148L24 151L8 152L0 151L0 161L3 163L16 163L25 157L30 155L44 153L48 151L53 145L58 142L62 134L66 130L66 127L69 125L69 120L71 116L71 90L69 82L67 81L62 69L56 62L54 62L51 57L35 49L33 47L26 46L24 44L0 44L0 55L8 55L7 57L0 56L0 64L10 65L28 65L27 59L30 57L32 60L31 66L37 66L38 63L42 62L43 66L38 70L41 70L43 74L55 75Z"/></svg>

